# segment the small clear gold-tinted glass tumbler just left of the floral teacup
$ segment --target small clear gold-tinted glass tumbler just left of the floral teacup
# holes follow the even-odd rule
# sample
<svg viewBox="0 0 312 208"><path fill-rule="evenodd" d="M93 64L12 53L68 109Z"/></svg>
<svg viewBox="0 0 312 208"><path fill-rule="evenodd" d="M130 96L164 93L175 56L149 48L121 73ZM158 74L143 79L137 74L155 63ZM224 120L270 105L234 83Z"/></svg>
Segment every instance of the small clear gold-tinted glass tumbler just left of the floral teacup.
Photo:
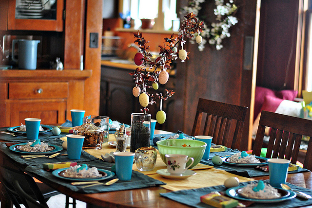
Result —
<svg viewBox="0 0 312 208"><path fill-rule="evenodd" d="M154 147L141 147L136 150L135 160L137 170L153 171L157 159L157 152Z"/></svg>

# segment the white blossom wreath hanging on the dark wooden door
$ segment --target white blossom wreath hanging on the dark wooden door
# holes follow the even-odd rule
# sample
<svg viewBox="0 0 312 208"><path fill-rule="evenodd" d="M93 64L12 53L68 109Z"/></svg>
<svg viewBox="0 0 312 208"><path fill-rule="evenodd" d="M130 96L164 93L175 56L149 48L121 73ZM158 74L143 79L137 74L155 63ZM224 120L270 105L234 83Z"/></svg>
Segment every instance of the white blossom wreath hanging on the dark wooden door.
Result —
<svg viewBox="0 0 312 208"><path fill-rule="evenodd" d="M203 2L205 0L188 0L188 6L183 7L181 11L198 14L201 10L200 3ZM215 45L216 50L221 50L223 48L222 40L231 36L229 29L238 22L237 18L233 16L234 11L237 9L234 0L229 0L225 5L224 0L215 0L215 5L214 14L217 22L211 23L211 25L204 23L205 29L200 34L203 39L198 45L199 51L204 50L207 40L210 45ZM195 43L194 40L190 42Z"/></svg>

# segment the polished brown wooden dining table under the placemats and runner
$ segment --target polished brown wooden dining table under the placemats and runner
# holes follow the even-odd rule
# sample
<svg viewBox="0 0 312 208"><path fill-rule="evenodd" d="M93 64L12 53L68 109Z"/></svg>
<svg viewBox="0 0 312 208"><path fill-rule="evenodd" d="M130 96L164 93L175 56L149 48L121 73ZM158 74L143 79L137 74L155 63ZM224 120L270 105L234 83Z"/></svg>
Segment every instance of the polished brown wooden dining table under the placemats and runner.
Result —
<svg viewBox="0 0 312 208"><path fill-rule="evenodd" d="M166 134L168 132L155 130L155 134ZM0 140L1 141L1 140ZM3 141L3 140L2 140ZM24 170L20 163L13 161L5 154L0 151L0 163L7 166L13 166ZM41 182L47 184L48 186L54 188L60 193L66 194L72 198L83 201L87 203L87 208L117 208L117 207L148 207L148 208L158 208L158 207L179 207L188 208L189 206L180 204L176 201L170 200L168 198L160 196L159 193L170 192L160 186L148 187L141 189L125 190L125 191L111 191L111 192L98 192L98 193L79 193L72 191L69 188L61 186L59 184L53 183L53 181L46 180L46 178L40 175L33 174L33 177L37 178ZM252 179L269 179L269 176L258 176ZM312 189L312 173L289 173L287 176L287 182L294 185ZM8 203L7 197L2 197L1 208L7 208L10 203ZM312 206L308 206L311 207Z"/></svg>

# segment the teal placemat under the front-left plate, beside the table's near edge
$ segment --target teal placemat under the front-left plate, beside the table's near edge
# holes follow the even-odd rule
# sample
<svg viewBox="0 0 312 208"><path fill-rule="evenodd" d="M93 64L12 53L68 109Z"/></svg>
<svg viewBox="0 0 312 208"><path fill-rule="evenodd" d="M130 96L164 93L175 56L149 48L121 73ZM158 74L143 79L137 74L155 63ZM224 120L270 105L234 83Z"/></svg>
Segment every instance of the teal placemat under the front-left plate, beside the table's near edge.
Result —
<svg viewBox="0 0 312 208"><path fill-rule="evenodd" d="M82 163L78 163L82 164ZM83 163L85 164L85 163ZM99 169L105 169L111 171L111 167L115 163L109 163L104 162L103 160L94 160L87 163L88 166L97 167ZM137 171L132 171L132 176L130 181L117 181L115 184L112 184L110 186L93 186L81 189L82 186L73 186L71 185L71 182L69 180L61 179L59 177L54 176L51 172L46 172L43 170L42 166L28 166L25 169L26 172L29 173L35 173L38 174L47 180L57 183L59 185L65 186L72 191L77 191L81 193L98 193L98 192L108 192L108 191L122 191L122 190L131 190L131 189L141 189L141 188L147 188L147 187L153 187L153 186L160 186L164 185L164 182L161 182L159 180L156 180L154 178L149 177L148 175L144 175L143 173L139 173ZM103 180L101 182L107 182L112 179L116 178L116 175L112 178L109 178L107 180Z"/></svg>

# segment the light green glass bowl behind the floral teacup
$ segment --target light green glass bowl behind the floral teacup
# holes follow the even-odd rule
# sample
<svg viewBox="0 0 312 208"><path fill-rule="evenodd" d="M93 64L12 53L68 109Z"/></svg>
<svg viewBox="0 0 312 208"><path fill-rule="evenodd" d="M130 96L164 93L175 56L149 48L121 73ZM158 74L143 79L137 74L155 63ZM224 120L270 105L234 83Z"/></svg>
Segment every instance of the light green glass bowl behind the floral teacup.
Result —
<svg viewBox="0 0 312 208"><path fill-rule="evenodd" d="M167 164L166 154L181 154L194 158L194 163L190 168L193 168L200 162L207 146L203 141L191 139L165 139L157 141L156 144L160 157L165 164ZM183 147L183 144L186 144L186 147ZM191 164L191 161L188 161L186 166L189 164Z"/></svg>

